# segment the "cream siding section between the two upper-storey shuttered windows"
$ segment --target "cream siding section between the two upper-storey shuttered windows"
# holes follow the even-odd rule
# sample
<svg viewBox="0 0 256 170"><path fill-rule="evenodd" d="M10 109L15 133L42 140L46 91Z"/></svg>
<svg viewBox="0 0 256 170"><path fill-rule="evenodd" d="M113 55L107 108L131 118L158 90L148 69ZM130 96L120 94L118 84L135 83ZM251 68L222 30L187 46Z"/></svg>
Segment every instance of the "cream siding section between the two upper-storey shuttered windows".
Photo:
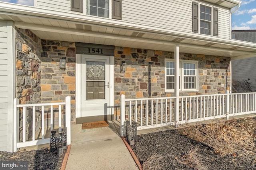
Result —
<svg viewBox="0 0 256 170"><path fill-rule="evenodd" d="M191 17L190 0L122 0L122 21L191 32Z"/></svg>

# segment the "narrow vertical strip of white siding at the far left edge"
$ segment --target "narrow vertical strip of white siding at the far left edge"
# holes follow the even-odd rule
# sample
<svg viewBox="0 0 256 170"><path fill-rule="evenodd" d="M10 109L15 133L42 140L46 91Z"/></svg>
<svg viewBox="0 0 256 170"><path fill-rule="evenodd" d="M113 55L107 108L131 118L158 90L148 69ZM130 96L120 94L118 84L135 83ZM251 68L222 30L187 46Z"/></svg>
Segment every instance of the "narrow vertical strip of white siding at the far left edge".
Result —
<svg viewBox="0 0 256 170"><path fill-rule="evenodd" d="M0 150L7 150L8 55L7 22L0 21Z"/></svg>

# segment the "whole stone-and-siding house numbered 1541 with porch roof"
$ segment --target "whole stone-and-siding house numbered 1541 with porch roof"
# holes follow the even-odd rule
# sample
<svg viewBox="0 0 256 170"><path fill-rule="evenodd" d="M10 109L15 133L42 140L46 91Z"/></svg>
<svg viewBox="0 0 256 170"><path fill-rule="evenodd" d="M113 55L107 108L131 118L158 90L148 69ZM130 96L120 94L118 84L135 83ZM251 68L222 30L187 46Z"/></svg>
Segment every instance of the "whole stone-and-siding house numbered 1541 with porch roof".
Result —
<svg viewBox="0 0 256 170"><path fill-rule="evenodd" d="M14 150L14 98L35 104L71 96L71 121L84 123L119 119L121 94L152 98L230 90L230 61L256 56L256 44L230 37L230 9L240 3L0 2L0 150ZM60 69L61 59L66 69Z"/></svg>

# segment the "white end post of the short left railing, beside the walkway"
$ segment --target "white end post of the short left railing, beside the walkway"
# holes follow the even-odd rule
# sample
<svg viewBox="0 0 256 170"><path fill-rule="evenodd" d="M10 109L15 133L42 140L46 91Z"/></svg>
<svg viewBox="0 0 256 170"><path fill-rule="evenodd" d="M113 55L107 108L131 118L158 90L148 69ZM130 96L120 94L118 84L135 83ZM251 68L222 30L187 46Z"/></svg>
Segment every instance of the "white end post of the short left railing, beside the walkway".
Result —
<svg viewBox="0 0 256 170"><path fill-rule="evenodd" d="M70 96L66 97L66 117L65 117L65 124L67 128L67 145L71 144L71 125L70 125L70 116L71 116L71 98Z"/></svg>

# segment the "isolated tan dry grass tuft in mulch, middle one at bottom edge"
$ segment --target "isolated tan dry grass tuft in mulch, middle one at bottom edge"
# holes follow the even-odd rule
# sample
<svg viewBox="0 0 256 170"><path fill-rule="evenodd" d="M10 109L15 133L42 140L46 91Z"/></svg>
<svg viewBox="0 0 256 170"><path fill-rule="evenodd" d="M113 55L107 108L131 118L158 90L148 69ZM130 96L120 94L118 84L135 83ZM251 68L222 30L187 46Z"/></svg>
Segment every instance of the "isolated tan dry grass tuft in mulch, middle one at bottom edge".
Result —
<svg viewBox="0 0 256 170"><path fill-rule="evenodd" d="M207 170L208 168L203 165L202 158L196 153L199 146L191 147L180 159L179 162L186 164L187 166L194 168L195 170Z"/></svg>

